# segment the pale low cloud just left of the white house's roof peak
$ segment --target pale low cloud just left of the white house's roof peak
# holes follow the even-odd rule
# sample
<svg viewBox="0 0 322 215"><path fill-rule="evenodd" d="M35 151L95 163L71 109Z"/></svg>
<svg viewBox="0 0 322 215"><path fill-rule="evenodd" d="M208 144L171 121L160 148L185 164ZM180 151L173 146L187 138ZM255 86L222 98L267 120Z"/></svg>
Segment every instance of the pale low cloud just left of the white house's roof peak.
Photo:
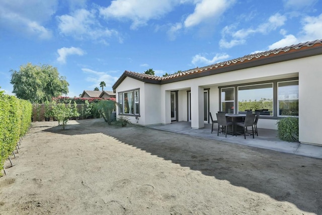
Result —
<svg viewBox="0 0 322 215"><path fill-rule="evenodd" d="M93 83L92 85L88 86L89 88L100 87L101 82L105 82L106 87L105 90L112 90L112 86L114 83L119 79L119 77L113 77L106 72L103 71L95 71L89 68L82 68L84 73L88 74L86 78L87 82ZM110 73L114 73L114 71L110 71Z"/></svg>

